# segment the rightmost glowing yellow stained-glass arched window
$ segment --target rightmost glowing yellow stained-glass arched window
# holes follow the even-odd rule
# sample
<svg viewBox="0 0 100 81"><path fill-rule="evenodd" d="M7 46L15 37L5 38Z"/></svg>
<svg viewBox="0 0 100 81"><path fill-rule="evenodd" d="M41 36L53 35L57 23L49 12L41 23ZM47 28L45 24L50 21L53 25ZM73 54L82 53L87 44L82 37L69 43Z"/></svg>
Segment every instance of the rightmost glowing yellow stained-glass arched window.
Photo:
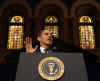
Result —
<svg viewBox="0 0 100 81"><path fill-rule="evenodd" d="M89 16L82 16L79 22L80 47L83 49L94 49L95 35L92 19Z"/></svg>

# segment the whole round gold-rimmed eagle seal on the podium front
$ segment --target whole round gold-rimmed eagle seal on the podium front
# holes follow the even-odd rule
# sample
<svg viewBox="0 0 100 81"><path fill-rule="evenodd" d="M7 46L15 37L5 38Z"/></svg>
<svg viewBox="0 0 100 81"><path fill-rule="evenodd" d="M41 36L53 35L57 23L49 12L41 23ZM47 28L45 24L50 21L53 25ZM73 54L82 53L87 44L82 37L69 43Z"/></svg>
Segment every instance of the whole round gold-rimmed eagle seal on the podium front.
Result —
<svg viewBox="0 0 100 81"><path fill-rule="evenodd" d="M46 57L40 61L38 72L43 79L57 80L64 74L64 63L57 57Z"/></svg>

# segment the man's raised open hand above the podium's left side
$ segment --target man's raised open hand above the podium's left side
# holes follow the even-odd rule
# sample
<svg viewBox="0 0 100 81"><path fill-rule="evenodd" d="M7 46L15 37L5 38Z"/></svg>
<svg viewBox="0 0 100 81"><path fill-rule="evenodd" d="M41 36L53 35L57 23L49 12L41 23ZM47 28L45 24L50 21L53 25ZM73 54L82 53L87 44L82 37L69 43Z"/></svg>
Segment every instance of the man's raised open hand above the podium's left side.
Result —
<svg viewBox="0 0 100 81"><path fill-rule="evenodd" d="M25 38L24 44L25 44L26 52L28 53L34 53L38 48L37 45L35 46L35 48L32 48L32 38L30 37Z"/></svg>

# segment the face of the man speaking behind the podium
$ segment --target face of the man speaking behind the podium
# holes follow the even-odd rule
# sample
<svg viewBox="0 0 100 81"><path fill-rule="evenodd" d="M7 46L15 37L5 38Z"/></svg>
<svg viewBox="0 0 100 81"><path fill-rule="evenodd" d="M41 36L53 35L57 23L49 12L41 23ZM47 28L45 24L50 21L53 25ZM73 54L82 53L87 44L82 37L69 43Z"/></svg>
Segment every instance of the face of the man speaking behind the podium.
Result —
<svg viewBox="0 0 100 81"><path fill-rule="evenodd" d="M51 45L53 42L52 32L49 30L43 30L41 35L38 37L40 44Z"/></svg>

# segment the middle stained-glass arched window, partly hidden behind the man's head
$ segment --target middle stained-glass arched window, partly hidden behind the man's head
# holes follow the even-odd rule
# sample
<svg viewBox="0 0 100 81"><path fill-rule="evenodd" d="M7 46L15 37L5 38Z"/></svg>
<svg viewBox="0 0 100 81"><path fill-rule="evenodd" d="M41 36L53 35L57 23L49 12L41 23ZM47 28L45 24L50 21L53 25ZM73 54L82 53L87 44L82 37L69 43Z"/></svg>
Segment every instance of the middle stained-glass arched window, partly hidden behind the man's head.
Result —
<svg viewBox="0 0 100 81"><path fill-rule="evenodd" d="M50 30L54 38L59 38L59 27L57 25L58 19L55 16L48 16L45 19L45 29Z"/></svg>

